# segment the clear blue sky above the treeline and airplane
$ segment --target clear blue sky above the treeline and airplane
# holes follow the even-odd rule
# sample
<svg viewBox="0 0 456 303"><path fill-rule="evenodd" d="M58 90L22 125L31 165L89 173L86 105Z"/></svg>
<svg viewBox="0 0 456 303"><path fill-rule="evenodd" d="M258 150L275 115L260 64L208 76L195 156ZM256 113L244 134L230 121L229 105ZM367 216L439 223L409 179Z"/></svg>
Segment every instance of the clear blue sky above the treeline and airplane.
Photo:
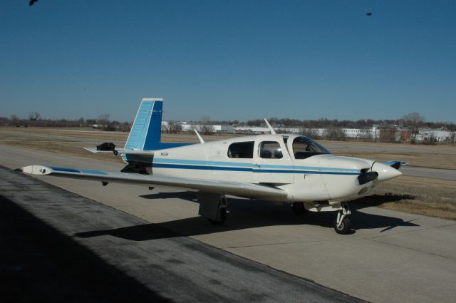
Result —
<svg viewBox="0 0 456 303"><path fill-rule="evenodd" d="M366 12L372 11L372 16ZM0 116L456 122L456 1L0 1Z"/></svg>

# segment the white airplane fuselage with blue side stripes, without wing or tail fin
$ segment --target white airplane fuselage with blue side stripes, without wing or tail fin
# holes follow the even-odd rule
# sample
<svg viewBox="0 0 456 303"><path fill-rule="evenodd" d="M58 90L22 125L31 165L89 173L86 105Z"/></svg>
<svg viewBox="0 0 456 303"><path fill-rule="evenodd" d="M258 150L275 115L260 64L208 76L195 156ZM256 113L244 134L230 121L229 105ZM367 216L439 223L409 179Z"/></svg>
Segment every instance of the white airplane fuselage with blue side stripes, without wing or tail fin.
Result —
<svg viewBox="0 0 456 303"><path fill-rule="evenodd" d="M171 177L191 177L206 180L236 181L273 185L287 192L287 202L343 202L368 195L375 183L400 175L398 170L373 160L348 158L331 153L296 158L294 140L300 135L254 135L227 138L178 148L155 150L149 173ZM281 158L265 158L261 144L280 149ZM232 144L248 143L252 158L230 157ZM269 156L269 153L266 154ZM239 158L238 158L239 157ZM138 157L135 157L138 160ZM127 162L130 160L125 159ZM375 168L373 167L375 166ZM378 178L360 185L358 176L377 171ZM276 200L261 197L262 200Z"/></svg>

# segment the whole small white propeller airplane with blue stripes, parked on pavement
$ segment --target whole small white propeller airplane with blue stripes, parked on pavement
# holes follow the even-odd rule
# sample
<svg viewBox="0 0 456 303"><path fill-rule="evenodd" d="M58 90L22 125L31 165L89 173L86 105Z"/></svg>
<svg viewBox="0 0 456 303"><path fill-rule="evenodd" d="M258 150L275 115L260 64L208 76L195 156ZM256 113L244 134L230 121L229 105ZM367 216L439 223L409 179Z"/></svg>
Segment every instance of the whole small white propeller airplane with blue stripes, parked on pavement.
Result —
<svg viewBox="0 0 456 303"><path fill-rule="evenodd" d="M143 98L125 148L103 144L92 153L120 154L120 172L30 165L32 175L88 179L108 183L142 183L197 190L199 215L212 224L227 219L227 195L289 202L294 212L338 212L333 227L351 230L347 201L369 194L377 183L401 175L408 163L341 157L304 135L251 135L199 143L162 143L162 99Z"/></svg>

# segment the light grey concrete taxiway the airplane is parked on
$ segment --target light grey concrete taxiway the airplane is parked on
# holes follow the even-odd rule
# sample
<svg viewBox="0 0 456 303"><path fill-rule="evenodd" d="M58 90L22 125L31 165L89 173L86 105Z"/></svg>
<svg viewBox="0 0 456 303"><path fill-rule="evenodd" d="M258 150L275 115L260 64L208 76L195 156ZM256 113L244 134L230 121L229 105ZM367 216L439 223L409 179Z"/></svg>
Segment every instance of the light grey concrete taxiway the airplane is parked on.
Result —
<svg viewBox="0 0 456 303"><path fill-rule="evenodd" d="M0 146L0 153L0 164L9 168L31 164L102 170L123 167L121 163L8 146ZM355 207L355 233L337 235L331 227L333 213L299 217L289 205L232 198L225 225L212 226L196 215L193 192L150 191L139 185L103 187L97 182L45 176L38 179L138 220L117 227L90 227L78 239L119 238L141 244L162 240L160 232L154 232L160 226L180 237L371 302L453 302L456 295L454 221ZM71 221L78 216L79 212L67 218ZM109 222L112 216L100 214L93 220ZM160 260L161 265L171 266ZM128 261L125 264L128 267Z"/></svg>

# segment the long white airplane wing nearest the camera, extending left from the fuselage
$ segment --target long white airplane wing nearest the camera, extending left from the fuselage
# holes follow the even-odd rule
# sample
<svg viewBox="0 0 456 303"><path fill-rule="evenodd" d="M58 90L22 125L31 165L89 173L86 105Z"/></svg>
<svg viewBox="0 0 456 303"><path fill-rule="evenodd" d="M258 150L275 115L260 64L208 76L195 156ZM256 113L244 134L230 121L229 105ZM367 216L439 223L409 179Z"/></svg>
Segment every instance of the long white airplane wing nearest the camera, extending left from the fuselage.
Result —
<svg viewBox="0 0 456 303"><path fill-rule="evenodd" d="M175 188L187 188L203 192L215 192L239 197L274 197L286 199L287 192L279 188L253 183L238 183L194 178L141 175L137 173L105 172L79 168L58 168L30 165L17 170L31 175L55 175L66 178L96 180L107 183L142 183L149 186L162 185Z"/></svg>

